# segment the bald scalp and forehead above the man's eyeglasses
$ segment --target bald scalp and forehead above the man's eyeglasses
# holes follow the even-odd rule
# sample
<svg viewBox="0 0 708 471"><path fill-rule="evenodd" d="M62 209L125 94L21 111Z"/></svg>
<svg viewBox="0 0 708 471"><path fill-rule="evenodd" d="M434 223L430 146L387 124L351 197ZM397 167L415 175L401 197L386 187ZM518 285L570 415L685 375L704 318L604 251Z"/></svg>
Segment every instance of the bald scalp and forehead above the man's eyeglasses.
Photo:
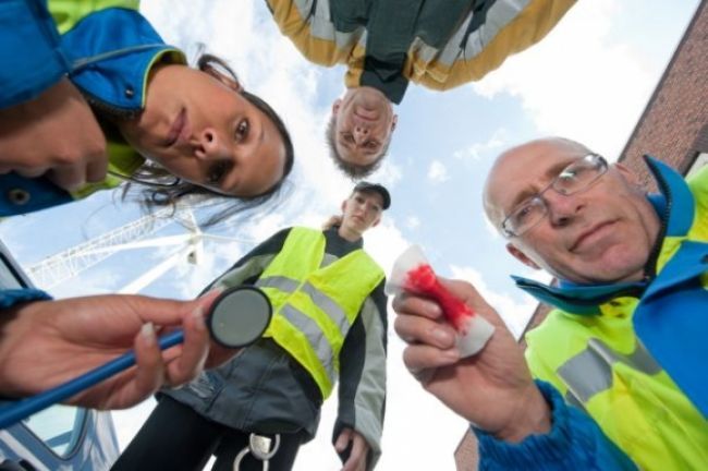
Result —
<svg viewBox="0 0 708 471"><path fill-rule="evenodd" d="M564 137L545 137L512 147L495 161L483 193L487 218L498 230L513 201L520 200L517 192L527 180L528 170L549 166L554 169L559 162L570 162L591 150L581 143Z"/></svg>

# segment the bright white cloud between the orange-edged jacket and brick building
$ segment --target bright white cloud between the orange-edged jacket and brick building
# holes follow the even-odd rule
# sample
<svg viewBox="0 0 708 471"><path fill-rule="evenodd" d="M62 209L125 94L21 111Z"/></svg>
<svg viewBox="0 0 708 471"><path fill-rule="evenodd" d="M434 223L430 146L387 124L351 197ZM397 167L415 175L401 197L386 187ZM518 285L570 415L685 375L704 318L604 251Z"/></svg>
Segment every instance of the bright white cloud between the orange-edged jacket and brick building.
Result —
<svg viewBox="0 0 708 471"><path fill-rule="evenodd" d="M611 37L621 2L577 2L538 45L471 85L518 97L541 134L617 156L656 83L642 55Z"/></svg>

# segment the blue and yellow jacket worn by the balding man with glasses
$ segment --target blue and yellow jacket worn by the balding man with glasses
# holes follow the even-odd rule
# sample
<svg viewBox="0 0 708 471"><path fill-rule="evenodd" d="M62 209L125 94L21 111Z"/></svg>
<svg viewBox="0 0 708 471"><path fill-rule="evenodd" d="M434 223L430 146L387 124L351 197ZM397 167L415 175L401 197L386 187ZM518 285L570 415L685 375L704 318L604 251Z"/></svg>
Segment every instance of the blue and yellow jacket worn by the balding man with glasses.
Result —
<svg viewBox="0 0 708 471"><path fill-rule="evenodd" d="M708 167L684 181L646 160L661 190L649 196L661 233L644 280L548 287L516 278L557 307L526 335L553 431L518 447L478 433L488 469L633 469L627 457L646 470L708 467Z"/></svg>

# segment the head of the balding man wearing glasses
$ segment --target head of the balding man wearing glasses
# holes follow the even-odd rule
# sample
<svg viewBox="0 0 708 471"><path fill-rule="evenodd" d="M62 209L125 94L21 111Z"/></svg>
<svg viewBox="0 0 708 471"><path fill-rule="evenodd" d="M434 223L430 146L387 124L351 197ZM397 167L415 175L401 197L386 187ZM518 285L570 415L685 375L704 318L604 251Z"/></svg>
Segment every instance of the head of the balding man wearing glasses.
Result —
<svg viewBox="0 0 708 471"><path fill-rule="evenodd" d="M558 137L506 150L485 184L487 217L501 231L508 215L524 202L538 198L542 204L540 218L538 213L529 216L534 220L527 230L508 235L506 250L512 256L576 283L642 279L659 233L659 218L634 173L621 164L602 164L595 169L586 167L595 174L578 191L546 191L569 166L589 154L586 146ZM564 178L573 179L576 171L585 170L567 171ZM526 217L529 207L517 217Z"/></svg>

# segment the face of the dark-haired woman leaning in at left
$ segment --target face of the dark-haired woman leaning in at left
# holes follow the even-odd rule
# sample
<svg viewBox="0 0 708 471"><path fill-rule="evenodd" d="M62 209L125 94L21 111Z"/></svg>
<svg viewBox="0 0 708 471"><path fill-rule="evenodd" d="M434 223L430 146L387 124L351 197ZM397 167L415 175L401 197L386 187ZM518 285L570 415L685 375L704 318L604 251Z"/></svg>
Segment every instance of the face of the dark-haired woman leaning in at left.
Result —
<svg viewBox="0 0 708 471"><path fill-rule="evenodd" d="M273 122L234 87L185 65L160 67L139 119L119 128L176 177L225 195L259 195L283 178L285 147Z"/></svg>

